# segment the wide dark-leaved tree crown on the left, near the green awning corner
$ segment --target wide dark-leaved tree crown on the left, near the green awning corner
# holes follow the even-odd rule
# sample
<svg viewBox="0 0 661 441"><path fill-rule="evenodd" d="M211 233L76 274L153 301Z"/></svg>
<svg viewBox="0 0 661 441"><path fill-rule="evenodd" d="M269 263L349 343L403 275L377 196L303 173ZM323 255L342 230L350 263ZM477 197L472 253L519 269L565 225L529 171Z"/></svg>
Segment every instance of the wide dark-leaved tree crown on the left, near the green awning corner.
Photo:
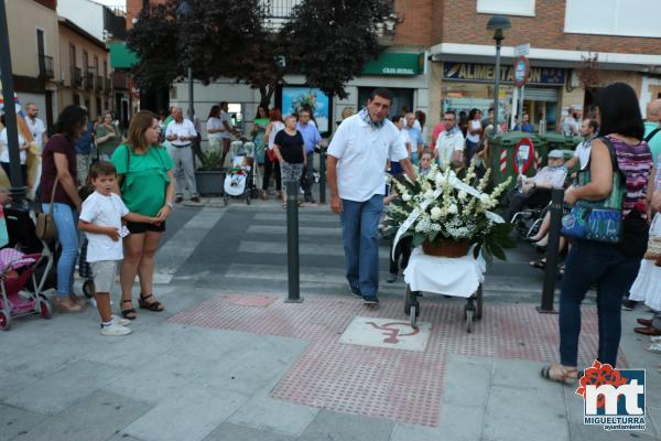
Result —
<svg viewBox="0 0 661 441"><path fill-rule="evenodd" d="M139 56L133 66L138 86L169 87L187 67L208 84L220 76L239 77L246 49L254 52L262 39L260 0L186 0L191 12L180 14L181 0L167 0L142 11L127 43Z"/></svg>

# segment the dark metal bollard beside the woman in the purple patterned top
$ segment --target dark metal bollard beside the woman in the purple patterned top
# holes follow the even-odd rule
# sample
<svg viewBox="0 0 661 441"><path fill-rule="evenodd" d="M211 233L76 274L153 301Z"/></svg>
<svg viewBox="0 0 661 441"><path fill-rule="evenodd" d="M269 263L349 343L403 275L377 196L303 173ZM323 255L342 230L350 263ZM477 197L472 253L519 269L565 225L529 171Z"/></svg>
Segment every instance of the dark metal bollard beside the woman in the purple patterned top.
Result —
<svg viewBox="0 0 661 441"><path fill-rule="evenodd" d="M557 280L557 261L560 258L560 229L562 227L562 204L564 191L553 189L551 196L551 225L549 226L549 245L546 245L546 267L544 271L544 288L542 289L542 303L537 306L539 313L555 314L553 298L555 295L555 281Z"/></svg>

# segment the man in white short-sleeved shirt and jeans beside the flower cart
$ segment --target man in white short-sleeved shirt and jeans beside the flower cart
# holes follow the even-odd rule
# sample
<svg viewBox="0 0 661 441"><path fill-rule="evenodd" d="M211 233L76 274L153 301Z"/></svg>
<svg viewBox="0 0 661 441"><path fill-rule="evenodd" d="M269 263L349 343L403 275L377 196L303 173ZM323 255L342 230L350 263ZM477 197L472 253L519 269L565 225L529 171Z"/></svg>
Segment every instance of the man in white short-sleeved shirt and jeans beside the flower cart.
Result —
<svg viewBox="0 0 661 441"><path fill-rule="evenodd" d="M342 220L347 280L366 304L379 303L378 226L387 162L399 161L415 179L400 132L387 119L391 104L390 90L373 90L366 108L342 121L326 161L330 208Z"/></svg>

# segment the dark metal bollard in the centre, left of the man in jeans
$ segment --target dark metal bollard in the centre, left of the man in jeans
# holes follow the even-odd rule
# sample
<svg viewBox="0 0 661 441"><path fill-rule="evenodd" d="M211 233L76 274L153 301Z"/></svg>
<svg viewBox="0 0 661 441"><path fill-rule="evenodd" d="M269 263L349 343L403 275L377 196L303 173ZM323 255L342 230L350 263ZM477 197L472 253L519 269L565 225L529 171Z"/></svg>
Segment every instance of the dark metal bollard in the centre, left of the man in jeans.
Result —
<svg viewBox="0 0 661 441"><path fill-rule="evenodd" d="M286 183L288 297L285 303L303 302L299 269L299 182Z"/></svg>

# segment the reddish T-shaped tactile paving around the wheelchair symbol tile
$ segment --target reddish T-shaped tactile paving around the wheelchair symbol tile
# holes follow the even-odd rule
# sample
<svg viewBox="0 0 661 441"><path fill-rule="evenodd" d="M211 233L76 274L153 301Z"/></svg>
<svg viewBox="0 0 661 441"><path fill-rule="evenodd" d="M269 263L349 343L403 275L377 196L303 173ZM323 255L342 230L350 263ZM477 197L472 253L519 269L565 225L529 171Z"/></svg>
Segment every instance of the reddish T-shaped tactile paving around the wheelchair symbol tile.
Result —
<svg viewBox="0 0 661 441"><path fill-rule="evenodd" d="M402 320L403 301L382 299L378 309L353 298L306 297L288 304L270 297L266 308L237 304L220 295L183 311L172 322L300 337L311 343L272 390L274 398L339 412L436 427L440 424L447 354L557 359L557 315L539 314L531 304L486 304L472 334L465 331L464 303L421 299L420 320L432 323L424 352L339 343L356 315ZM264 299L268 295L251 295ZM596 306L583 309L579 365L589 366L598 342ZM624 357L618 365L626 367ZM540 379L541 380L541 379Z"/></svg>

